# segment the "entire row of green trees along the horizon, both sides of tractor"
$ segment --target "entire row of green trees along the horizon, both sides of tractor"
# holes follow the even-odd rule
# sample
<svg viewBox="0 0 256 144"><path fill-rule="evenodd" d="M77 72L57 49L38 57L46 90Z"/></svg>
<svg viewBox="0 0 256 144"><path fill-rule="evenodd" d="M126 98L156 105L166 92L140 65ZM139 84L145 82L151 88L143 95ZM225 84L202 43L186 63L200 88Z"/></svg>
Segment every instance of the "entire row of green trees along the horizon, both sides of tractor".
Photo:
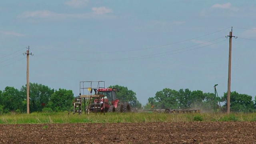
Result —
<svg viewBox="0 0 256 144"><path fill-rule="evenodd" d="M217 97L214 93L203 93L201 90L191 91L189 89L172 90L164 88L156 92L154 97L148 98L145 106L137 100L136 93L128 90L124 86L109 86L109 88L118 88L116 98L121 102L129 102L133 108L154 109L172 108L172 109L188 109L200 108L201 111L226 112L227 93L224 96ZM20 90L6 86L0 90L0 114L15 112L26 112L26 85ZM62 112L72 111L72 101L75 97L72 90L59 88L54 90L42 84L30 83L30 112ZM223 106L220 106L220 102ZM255 112L256 100L252 100L252 96L247 94L239 94L234 91L230 93L230 111L231 112Z"/></svg>

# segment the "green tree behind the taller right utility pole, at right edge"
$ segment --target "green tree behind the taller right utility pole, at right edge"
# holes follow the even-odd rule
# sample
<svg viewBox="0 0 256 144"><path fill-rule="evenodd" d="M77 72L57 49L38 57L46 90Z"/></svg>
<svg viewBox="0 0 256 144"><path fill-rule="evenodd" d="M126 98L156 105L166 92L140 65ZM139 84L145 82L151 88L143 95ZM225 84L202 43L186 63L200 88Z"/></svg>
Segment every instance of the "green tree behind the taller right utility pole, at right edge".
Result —
<svg viewBox="0 0 256 144"><path fill-rule="evenodd" d="M227 106L227 93L224 93L222 101ZM255 107L252 96L247 94L238 94L238 92L230 92L230 112L254 112Z"/></svg>

